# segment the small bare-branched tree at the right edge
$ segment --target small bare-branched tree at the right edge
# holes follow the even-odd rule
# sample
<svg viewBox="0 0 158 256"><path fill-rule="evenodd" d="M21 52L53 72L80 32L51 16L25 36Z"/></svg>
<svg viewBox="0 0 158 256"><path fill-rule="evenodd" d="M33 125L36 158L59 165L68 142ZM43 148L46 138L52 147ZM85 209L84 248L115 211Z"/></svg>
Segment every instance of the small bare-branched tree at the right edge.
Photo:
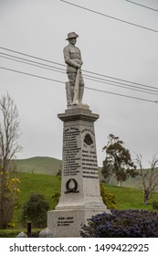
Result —
<svg viewBox="0 0 158 256"><path fill-rule="evenodd" d="M139 176L142 178L141 186L143 189L143 203L148 204L149 199L153 197L156 187L158 187L158 157L153 155L150 168L144 169L142 167L142 155L136 155L136 165L140 169Z"/></svg>

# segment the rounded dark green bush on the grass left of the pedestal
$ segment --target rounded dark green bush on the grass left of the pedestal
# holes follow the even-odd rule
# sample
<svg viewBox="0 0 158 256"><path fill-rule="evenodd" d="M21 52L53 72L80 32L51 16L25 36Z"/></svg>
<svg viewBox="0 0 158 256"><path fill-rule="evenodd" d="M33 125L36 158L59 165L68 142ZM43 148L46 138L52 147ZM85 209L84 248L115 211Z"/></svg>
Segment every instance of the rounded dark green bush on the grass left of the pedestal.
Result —
<svg viewBox="0 0 158 256"><path fill-rule="evenodd" d="M29 220L34 228L45 228L48 208L48 203L43 195L31 194L23 207L22 224L26 226L26 221Z"/></svg>

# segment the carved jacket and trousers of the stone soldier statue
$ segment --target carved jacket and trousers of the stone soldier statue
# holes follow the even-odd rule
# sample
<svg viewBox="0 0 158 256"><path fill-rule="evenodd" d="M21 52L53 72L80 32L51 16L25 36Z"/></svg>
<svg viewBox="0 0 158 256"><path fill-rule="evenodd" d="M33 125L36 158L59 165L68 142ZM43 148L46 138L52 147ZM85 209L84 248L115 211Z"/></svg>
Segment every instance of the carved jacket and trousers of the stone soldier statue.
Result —
<svg viewBox="0 0 158 256"><path fill-rule="evenodd" d="M67 73L68 73L68 80L70 83L70 86L75 85L75 80L76 80L76 75L77 75L77 65L82 64L82 59L81 59L81 53L79 48L75 47L72 44L68 44L67 47L64 48L64 59L65 62L67 63ZM84 80L82 78L82 74L80 71L79 75L79 87L84 86Z"/></svg>

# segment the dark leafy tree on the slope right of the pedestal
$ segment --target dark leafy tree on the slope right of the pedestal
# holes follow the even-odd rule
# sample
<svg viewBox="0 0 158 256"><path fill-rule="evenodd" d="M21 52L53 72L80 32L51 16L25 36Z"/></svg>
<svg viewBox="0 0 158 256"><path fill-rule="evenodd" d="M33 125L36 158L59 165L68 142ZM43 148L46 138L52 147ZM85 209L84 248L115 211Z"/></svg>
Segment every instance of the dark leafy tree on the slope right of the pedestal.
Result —
<svg viewBox="0 0 158 256"><path fill-rule="evenodd" d="M126 181L130 176L135 177L138 174L136 166L132 162L130 151L123 146L120 138L113 134L110 134L108 138L108 144L103 147L106 157L103 161L101 173L104 178L114 176L120 187L122 181Z"/></svg>

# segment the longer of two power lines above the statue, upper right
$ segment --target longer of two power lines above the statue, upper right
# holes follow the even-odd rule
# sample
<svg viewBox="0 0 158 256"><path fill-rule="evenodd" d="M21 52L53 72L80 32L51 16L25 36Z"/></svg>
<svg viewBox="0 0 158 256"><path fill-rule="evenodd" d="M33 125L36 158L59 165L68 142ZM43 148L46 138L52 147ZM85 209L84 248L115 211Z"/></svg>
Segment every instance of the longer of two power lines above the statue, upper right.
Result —
<svg viewBox="0 0 158 256"><path fill-rule="evenodd" d="M143 29L150 30L150 31L153 31L153 32L158 33L158 30L155 30L155 29L150 28L150 27L143 27L143 26L141 26L141 25L138 25L138 24L135 24L135 23L132 23L132 22L129 22L129 21L125 21L125 20L123 20L123 19L121 19L121 18L118 18L118 17L109 16L109 15L106 15L106 14L103 14L103 13L100 13L100 12L97 12L97 11L94 11L94 10L91 10L91 9L86 8L86 7L84 7L84 6L81 6L81 5L72 4L72 3L68 2L68 1L65 1L65 0L59 0L59 1L60 1L60 2L63 2L63 3L66 3L66 4L68 4L68 5L76 6L76 7L80 8L80 9L84 9L84 10L86 10L86 11L89 11L89 12L91 12L91 13L94 13L94 14L97 14L97 15L100 15L100 16L106 16L106 17L109 17L109 18L111 18L111 19L114 19L114 20L117 20L117 21L121 21L121 22L123 22L123 23L126 23L126 24L128 24L128 25L132 25L132 26L135 26L135 27L141 27L141 28L143 28Z"/></svg>

